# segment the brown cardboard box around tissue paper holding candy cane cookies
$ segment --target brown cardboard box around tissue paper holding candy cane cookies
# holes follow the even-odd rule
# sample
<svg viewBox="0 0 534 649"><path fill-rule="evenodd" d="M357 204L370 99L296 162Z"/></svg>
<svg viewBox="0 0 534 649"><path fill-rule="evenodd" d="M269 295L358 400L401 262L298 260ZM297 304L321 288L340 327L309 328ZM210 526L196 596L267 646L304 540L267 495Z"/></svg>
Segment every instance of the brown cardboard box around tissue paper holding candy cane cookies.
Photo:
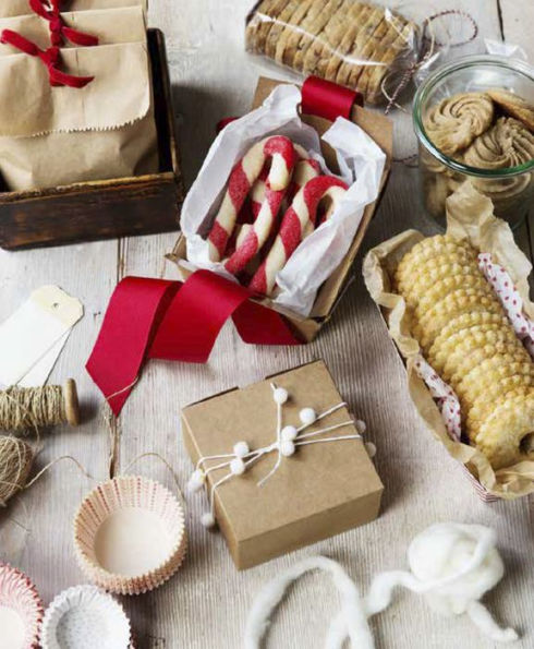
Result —
<svg viewBox="0 0 534 649"><path fill-rule="evenodd" d="M254 96L252 108L254 109L260 106L264 99L266 99L274 88L280 83L287 82L260 77L256 87L256 94ZM306 342L312 341L317 336L320 328L330 320L333 310L336 309L352 277L352 264L356 257L357 251L360 250L363 238L365 237L365 232L367 231L371 219L373 218L384 194L391 168L393 127L389 119L377 112L361 108L360 106L354 106L352 108L351 119L368 135L371 135L371 137L373 137L373 140L386 154L387 159L381 178L379 196L374 203L367 205L365 208L362 223L360 224L356 236L354 237L348 253L338 268L332 273L332 275L330 275L327 281L325 281L325 284L318 290L314 308L308 317L302 317L291 311L275 307L270 303L270 300L262 301L263 304L269 305L270 308L282 313L299 337L301 337ZM313 115L303 115L302 120L318 131L319 135L325 133L325 131L327 131L331 125L329 120ZM338 165L333 149L325 143L321 143L321 148L328 167L332 171L336 171L338 169ZM184 260L186 254L185 245L185 238L180 236L173 251L168 255L168 257L171 261L174 261L174 263L179 263L181 260Z"/></svg>

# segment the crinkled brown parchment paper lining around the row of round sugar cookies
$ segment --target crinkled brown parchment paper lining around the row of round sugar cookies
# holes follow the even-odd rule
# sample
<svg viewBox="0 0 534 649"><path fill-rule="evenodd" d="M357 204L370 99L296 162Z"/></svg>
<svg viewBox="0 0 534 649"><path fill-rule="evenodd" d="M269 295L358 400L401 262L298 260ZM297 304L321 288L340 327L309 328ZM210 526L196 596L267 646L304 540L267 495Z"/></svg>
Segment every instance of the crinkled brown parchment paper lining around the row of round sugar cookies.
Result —
<svg viewBox="0 0 534 649"><path fill-rule="evenodd" d="M481 252L490 253L493 262L500 264L509 273L523 300L525 314L533 319L534 304L529 299L527 280L532 265L515 244L508 224L494 216L491 201L480 194L470 182L465 182L447 199L446 205L447 233L469 241ZM434 436L489 493L507 500L526 495L534 491L534 462L522 461L494 471L485 455L477 448L452 441L436 401L414 371L413 359L420 352L420 346L410 333L404 299L391 290L391 277L402 256L423 238L416 230L401 232L372 249L363 266L367 289L381 308L389 334L406 361L408 387L412 401Z"/></svg>

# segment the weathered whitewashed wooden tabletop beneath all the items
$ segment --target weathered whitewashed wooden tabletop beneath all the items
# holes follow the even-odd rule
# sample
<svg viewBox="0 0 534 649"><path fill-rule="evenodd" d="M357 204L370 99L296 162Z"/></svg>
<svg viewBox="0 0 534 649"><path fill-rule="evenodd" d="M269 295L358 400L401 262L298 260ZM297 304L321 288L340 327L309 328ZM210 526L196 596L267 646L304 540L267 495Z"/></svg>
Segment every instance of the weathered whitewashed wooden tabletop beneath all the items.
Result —
<svg viewBox="0 0 534 649"><path fill-rule="evenodd" d="M223 116L247 110L256 79L264 71L243 52L243 23L251 3L150 1L150 24L167 36L187 184L214 137L215 123ZM436 0L418 4L428 5L428 13L463 8L485 36L521 44L534 60L532 0ZM393 119L400 157L415 149L415 140L409 116L397 112ZM408 227L435 230L417 200L416 170L396 164L364 249ZM518 236L530 251L529 230L522 228ZM174 277L163 261L174 239L174 235L165 235L0 253L0 320L43 284L63 287L85 305L85 317L75 327L52 376L58 382L66 376L76 378L85 423L78 430L52 431L39 466L70 454L94 477L108 476L109 438L98 416L101 398L84 364L119 279L130 274ZM487 603L499 621L520 630L518 648L534 647L534 500L488 505L476 497L460 467L434 442L410 405L403 366L363 286L361 260L354 273L356 281L313 345L294 349L248 347L227 326L207 365L150 362L116 431L117 470L120 472L142 453L157 452L169 459L185 484L191 465L179 428L182 406L321 357L353 410L367 421L369 438L378 447L376 465L386 485L381 516L360 529L238 573L222 538L201 527L202 498L194 500L187 520L191 551L183 568L159 590L123 599L142 649L235 649L241 646L254 594L279 569L303 556L324 553L340 561L365 590L374 573L405 567L406 546L415 533L445 520L480 522L497 530L507 574ZM141 460L136 470L173 488L167 469L156 459ZM60 590L84 582L73 555L72 518L93 485L71 465L60 464L0 513L0 558L26 570L46 603ZM267 646L321 647L337 602L325 578L306 577L277 614ZM380 648L494 647L466 618L439 617L421 598L406 592L399 592L395 604L373 620L373 628Z"/></svg>

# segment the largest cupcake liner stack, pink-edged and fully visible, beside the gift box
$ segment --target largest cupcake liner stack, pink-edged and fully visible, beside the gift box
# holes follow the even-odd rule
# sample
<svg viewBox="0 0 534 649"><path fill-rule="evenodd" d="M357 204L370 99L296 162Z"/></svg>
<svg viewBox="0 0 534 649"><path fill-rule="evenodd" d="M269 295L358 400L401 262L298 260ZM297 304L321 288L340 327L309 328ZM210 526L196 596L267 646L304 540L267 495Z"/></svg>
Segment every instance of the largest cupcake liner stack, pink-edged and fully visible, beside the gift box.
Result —
<svg viewBox="0 0 534 649"><path fill-rule="evenodd" d="M182 564L186 543L182 505L162 484L138 476L99 484L74 519L82 570L114 593L139 594L167 581Z"/></svg>

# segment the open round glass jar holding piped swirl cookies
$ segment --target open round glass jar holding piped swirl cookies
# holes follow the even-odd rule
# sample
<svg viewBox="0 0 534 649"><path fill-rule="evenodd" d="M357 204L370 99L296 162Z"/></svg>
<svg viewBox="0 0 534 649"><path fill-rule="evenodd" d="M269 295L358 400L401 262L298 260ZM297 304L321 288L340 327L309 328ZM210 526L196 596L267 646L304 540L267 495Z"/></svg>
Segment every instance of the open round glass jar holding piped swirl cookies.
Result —
<svg viewBox="0 0 534 649"><path fill-rule="evenodd" d="M510 91L534 105L534 68L490 55L462 57L428 75L415 94L413 123L418 140L421 191L426 209L440 225L445 225L447 196L466 180L491 199L495 215L511 227L521 224L533 205L534 159L503 169L470 167L438 149L425 131L428 111L441 99L490 88Z"/></svg>

